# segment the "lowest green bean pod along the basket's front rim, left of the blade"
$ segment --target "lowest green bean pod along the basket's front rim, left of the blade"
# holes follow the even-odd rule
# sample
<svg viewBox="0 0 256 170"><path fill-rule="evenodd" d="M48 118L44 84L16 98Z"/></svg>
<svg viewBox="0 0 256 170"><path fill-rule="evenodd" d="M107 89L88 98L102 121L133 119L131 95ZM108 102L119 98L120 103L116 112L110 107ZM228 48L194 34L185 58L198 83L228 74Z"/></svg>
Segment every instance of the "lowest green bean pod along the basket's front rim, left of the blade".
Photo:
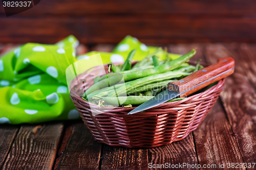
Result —
<svg viewBox="0 0 256 170"><path fill-rule="evenodd" d="M132 96L121 96L118 97L119 101L125 101L124 103L120 103L120 105L140 105L150 99L154 98L154 96L140 96L140 95L132 95ZM110 105L116 105L117 98L104 98L105 103Z"/></svg>

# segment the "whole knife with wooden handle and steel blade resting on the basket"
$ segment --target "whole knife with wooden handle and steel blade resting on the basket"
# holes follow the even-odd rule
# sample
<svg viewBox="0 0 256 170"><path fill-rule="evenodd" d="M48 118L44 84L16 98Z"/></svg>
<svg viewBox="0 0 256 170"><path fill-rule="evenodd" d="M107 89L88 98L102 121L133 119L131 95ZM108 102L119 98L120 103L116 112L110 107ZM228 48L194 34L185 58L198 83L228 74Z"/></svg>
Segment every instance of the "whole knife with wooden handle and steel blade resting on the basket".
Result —
<svg viewBox="0 0 256 170"><path fill-rule="evenodd" d="M138 113L156 106L164 102L172 100L179 96L184 98L211 83L219 81L234 72L234 59L226 57L219 59L216 64L200 69L193 74L175 82L169 82L167 89L157 94L151 100L139 105L128 114Z"/></svg>

